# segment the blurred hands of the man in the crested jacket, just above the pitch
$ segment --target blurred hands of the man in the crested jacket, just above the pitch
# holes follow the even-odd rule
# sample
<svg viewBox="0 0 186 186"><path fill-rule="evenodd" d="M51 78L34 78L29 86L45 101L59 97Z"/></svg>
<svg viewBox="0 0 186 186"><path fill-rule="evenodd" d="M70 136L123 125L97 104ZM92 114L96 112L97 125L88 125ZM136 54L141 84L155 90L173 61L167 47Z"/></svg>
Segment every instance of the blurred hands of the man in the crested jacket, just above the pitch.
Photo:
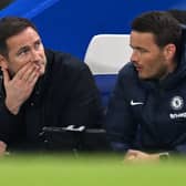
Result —
<svg viewBox="0 0 186 186"><path fill-rule="evenodd" d="M147 154L141 151L128 149L125 157L125 162L158 162L158 154Z"/></svg>

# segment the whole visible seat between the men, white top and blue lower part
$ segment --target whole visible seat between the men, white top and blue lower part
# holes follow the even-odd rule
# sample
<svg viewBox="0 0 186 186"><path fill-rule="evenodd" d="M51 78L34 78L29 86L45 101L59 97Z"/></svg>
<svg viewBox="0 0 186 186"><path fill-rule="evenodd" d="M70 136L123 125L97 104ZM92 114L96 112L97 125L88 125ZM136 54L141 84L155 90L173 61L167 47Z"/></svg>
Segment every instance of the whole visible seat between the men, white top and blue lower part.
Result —
<svg viewBox="0 0 186 186"><path fill-rule="evenodd" d="M131 53L130 34L97 34L87 46L84 62L95 78L105 107L117 72L130 61Z"/></svg>

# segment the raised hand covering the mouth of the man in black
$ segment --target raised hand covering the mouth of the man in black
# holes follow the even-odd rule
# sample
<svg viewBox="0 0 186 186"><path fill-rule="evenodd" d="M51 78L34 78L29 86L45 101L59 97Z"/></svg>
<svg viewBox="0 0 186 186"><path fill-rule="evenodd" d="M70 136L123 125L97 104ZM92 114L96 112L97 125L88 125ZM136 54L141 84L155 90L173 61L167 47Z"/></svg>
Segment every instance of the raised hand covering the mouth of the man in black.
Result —
<svg viewBox="0 0 186 186"><path fill-rule="evenodd" d="M40 68L34 63L27 63L10 80L7 69L2 69L6 89L6 105L8 110L17 115L21 105L31 95L35 82L40 76Z"/></svg>

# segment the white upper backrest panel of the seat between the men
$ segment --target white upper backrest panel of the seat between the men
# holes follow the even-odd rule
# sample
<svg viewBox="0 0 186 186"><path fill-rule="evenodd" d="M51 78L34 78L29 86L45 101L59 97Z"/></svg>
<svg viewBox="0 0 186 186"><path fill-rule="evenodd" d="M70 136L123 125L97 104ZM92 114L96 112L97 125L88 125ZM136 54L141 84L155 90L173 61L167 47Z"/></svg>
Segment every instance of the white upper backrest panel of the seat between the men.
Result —
<svg viewBox="0 0 186 186"><path fill-rule="evenodd" d="M92 38L84 61L94 75L116 74L131 53L130 34L99 34Z"/></svg>

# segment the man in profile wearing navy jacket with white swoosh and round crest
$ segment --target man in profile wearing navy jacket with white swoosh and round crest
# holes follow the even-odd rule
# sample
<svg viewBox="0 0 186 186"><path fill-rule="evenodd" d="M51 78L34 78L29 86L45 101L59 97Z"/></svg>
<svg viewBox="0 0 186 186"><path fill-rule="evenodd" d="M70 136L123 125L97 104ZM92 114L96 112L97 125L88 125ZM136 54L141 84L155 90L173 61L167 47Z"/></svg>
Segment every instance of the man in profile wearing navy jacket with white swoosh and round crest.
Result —
<svg viewBox="0 0 186 186"><path fill-rule="evenodd" d="M131 62L118 73L106 115L111 145L126 161L186 153L185 42L167 12L143 13L132 23Z"/></svg>

